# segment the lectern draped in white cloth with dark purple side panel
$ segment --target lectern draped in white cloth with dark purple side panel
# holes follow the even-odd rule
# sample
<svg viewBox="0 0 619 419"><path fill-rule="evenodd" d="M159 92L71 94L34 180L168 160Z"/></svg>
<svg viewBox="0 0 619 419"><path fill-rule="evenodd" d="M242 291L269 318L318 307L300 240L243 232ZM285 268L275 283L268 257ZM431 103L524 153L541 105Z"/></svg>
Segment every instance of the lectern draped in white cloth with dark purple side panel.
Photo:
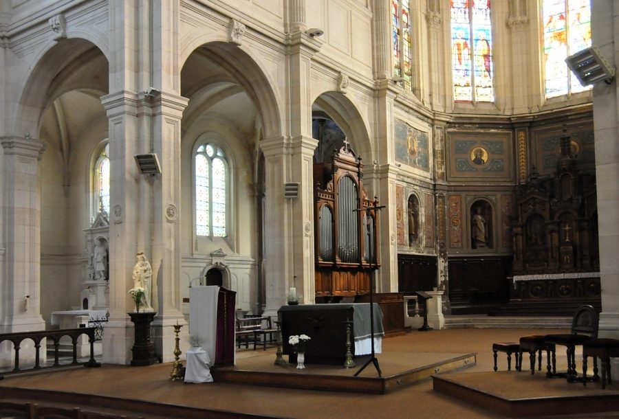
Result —
<svg viewBox="0 0 619 419"><path fill-rule="evenodd" d="M189 290L189 335L202 338L202 348L213 365L235 364L236 295L215 285Z"/></svg>

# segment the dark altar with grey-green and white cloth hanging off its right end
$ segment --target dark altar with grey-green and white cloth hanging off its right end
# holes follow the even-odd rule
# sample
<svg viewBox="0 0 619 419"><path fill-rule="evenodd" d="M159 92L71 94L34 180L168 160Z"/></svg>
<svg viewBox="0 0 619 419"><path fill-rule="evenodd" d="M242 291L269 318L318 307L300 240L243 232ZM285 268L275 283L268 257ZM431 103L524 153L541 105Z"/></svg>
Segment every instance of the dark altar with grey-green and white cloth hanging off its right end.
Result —
<svg viewBox="0 0 619 419"><path fill-rule="evenodd" d="M305 363L342 365L346 358L346 321L352 321L350 330L351 353L360 356L371 353L371 325L369 303L303 304L281 306L283 354L290 362L296 354L288 344L290 335L305 334L311 339L305 346ZM374 352L382 352L382 311L373 303Z"/></svg>

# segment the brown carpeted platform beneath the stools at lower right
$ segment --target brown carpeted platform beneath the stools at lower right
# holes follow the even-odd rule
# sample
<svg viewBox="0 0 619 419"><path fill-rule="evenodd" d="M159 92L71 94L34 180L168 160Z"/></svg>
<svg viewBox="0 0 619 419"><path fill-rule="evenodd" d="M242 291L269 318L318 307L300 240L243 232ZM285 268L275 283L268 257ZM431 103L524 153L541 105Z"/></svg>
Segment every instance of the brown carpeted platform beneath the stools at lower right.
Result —
<svg viewBox="0 0 619 419"><path fill-rule="evenodd" d="M475 372L433 376L437 392L510 418L586 415L617 411L619 384L567 383L541 372Z"/></svg>

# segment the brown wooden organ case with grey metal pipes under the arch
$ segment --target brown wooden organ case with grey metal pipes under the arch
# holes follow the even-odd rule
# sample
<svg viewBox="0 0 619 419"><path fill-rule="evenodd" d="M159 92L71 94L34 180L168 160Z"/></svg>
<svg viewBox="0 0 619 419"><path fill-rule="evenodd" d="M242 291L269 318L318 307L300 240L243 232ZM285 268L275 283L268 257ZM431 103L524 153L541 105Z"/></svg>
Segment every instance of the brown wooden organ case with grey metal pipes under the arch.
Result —
<svg viewBox="0 0 619 419"><path fill-rule="evenodd" d="M329 161L314 164L316 302L369 293L380 267L378 201L363 189L362 167L346 139Z"/></svg>

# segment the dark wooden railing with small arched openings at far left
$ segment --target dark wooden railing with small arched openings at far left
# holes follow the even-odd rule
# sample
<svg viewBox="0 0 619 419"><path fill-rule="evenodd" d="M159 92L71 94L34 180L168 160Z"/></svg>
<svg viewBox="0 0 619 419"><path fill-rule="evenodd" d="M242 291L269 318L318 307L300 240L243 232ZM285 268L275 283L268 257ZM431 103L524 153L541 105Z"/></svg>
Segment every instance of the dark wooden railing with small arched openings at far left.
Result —
<svg viewBox="0 0 619 419"><path fill-rule="evenodd" d="M38 332L15 332L15 333L0 333L0 343L3 341L11 341L13 343L13 351L15 356L14 368L10 372L0 373L0 379L4 375L19 374L20 372L29 372L32 370L49 370L58 367L67 367L68 365L84 365L86 367L99 367L101 364L94 359L94 341L96 328L77 328L77 329L62 329L62 330L40 330ZM77 360L77 345L80 335L87 335L90 343L90 359L88 361L78 362ZM61 364L58 361L58 347L60 346L61 338L68 336L73 343L73 361L70 364ZM50 366L41 365L41 341L43 339L52 339L54 342L54 364ZM26 339L34 342L34 367L22 370L19 367L19 348L21 343ZM45 348L44 348L45 350Z"/></svg>

